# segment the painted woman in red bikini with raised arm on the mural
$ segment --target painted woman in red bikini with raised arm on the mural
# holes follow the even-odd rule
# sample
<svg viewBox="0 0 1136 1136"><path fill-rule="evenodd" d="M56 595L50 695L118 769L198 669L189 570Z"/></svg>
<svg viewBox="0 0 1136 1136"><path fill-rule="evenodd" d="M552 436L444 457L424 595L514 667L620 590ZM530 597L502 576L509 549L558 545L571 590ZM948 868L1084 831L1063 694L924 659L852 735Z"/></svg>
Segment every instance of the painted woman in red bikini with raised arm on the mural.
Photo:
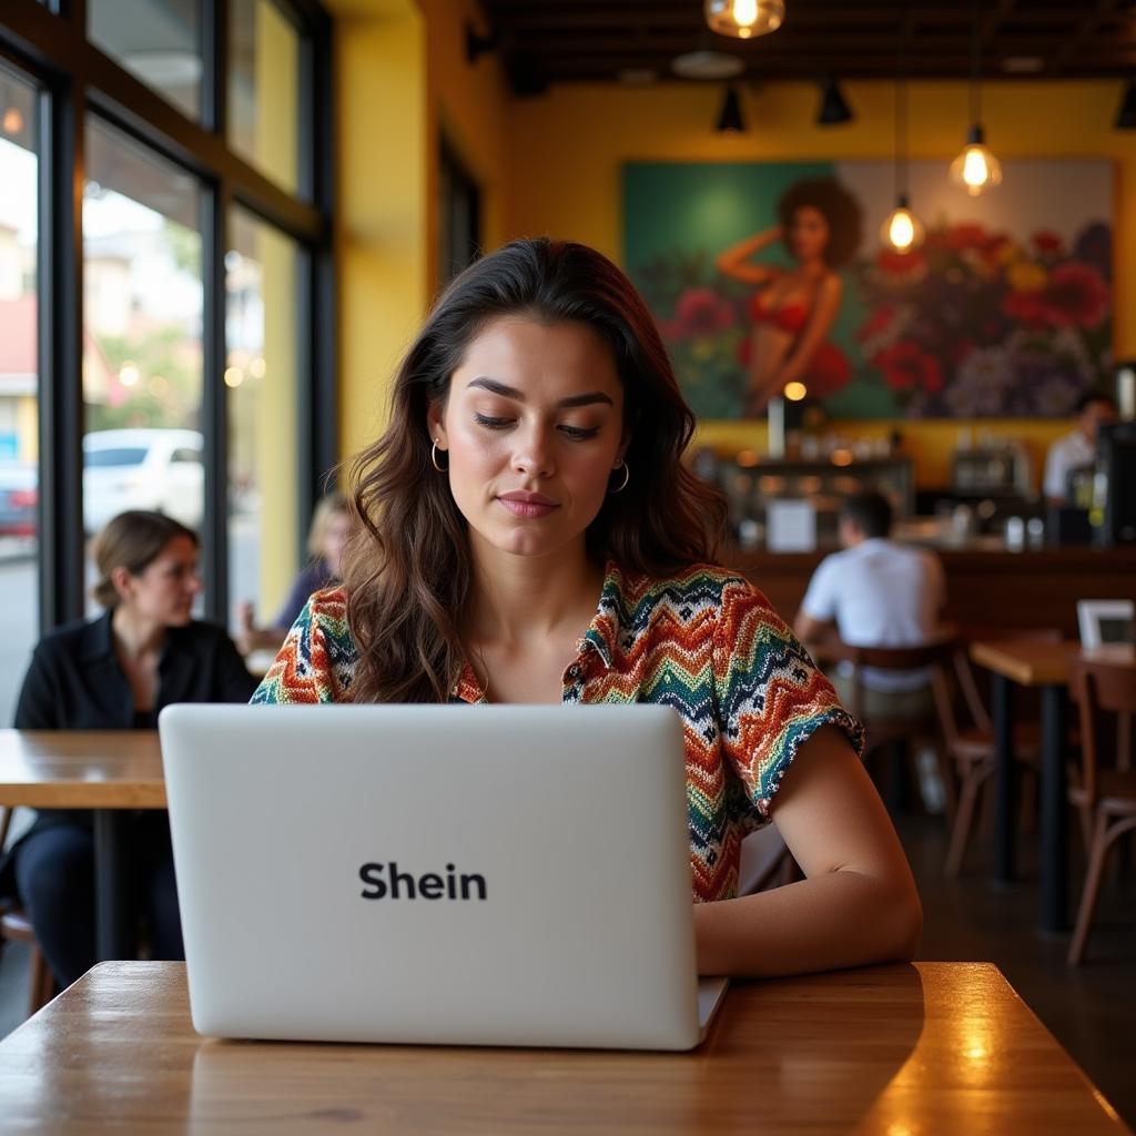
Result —
<svg viewBox="0 0 1136 1136"><path fill-rule="evenodd" d="M818 178L791 186L777 214L780 224L740 241L717 260L720 273L759 290L750 307L746 417L763 414L788 383L803 383L811 396L825 398L852 373L827 336L843 295L837 270L860 244L860 206L834 178ZM793 267L750 262L778 240L793 254Z"/></svg>

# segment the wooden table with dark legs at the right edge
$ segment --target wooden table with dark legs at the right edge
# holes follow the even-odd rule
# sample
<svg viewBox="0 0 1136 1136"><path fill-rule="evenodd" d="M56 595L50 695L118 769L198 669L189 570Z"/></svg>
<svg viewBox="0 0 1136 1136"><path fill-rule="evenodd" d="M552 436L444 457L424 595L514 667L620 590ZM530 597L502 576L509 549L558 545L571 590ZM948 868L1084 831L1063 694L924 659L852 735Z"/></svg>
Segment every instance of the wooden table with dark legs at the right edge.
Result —
<svg viewBox="0 0 1136 1136"><path fill-rule="evenodd" d="M1066 788L1067 687L1074 663L1106 661L1136 666L1136 648L1083 651L1077 643L1002 640L972 643L970 658L994 675L994 878L1013 879L1013 690L1042 694L1042 914L1043 930L1069 927L1069 825Z"/></svg>

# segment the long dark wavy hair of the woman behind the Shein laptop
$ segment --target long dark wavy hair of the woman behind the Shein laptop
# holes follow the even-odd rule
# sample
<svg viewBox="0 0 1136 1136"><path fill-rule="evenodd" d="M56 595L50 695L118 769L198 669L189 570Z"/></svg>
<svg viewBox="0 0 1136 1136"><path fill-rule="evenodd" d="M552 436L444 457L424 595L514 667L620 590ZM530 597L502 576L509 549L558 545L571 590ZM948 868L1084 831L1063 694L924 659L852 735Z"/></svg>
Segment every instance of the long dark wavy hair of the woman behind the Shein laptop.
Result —
<svg viewBox="0 0 1136 1136"><path fill-rule="evenodd" d="M715 560L725 502L680 461L694 415L634 285L583 244L515 241L446 287L399 367L390 425L351 463L357 523L343 583L356 702L445 702L460 675L469 537L449 478L431 463L426 411L445 404L470 341L506 315L584 324L615 356L629 479L588 527L588 552L650 575Z"/></svg>

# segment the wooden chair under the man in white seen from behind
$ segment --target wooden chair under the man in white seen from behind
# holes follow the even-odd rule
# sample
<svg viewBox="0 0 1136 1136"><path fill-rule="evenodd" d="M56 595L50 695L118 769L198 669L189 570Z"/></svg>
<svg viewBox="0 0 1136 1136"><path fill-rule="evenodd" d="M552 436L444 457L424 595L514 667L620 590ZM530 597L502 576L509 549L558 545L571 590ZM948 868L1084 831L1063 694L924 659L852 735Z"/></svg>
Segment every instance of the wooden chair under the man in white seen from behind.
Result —
<svg viewBox="0 0 1136 1136"><path fill-rule="evenodd" d="M935 751L939 776L943 780L945 810L949 824L953 824L957 793L954 772L947 753L943 746L938 715L934 701L928 703L925 713L919 715L868 715L866 712L867 688L863 684L864 668L875 670L924 670L932 675L950 663L955 650L957 637L953 627L943 628L930 643L921 646L853 646L841 640L825 640L810 646L818 661L840 661L852 665L852 700L847 710L868 730L868 749L876 750L883 745L904 745L914 742L927 742Z"/></svg>

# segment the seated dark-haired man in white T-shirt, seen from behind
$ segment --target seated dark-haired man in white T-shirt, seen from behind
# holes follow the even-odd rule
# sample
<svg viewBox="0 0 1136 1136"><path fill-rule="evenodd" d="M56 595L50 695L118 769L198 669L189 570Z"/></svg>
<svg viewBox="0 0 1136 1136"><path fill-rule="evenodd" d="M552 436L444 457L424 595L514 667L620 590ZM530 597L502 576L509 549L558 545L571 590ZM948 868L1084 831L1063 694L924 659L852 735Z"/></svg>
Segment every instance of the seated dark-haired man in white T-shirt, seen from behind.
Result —
<svg viewBox="0 0 1136 1136"><path fill-rule="evenodd" d="M869 491L841 509L843 551L826 557L809 582L793 629L817 642L835 629L853 646L919 646L934 638L946 599L943 566L934 552L888 538L892 507ZM845 702L852 699L850 663L833 679ZM930 711L928 676L864 668L863 713L914 717Z"/></svg>

